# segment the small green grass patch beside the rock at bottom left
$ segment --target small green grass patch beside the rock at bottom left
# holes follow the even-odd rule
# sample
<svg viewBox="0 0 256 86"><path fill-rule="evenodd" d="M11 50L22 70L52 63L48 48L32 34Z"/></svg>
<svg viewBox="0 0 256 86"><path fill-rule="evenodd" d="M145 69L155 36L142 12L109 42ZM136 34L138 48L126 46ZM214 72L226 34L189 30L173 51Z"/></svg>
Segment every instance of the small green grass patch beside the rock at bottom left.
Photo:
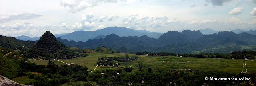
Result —
<svg viewBox="0 0 256 86"><path fill-rule="evenodd" d="M12 79L14 82L17 82L19 84L28 84L32 82L34 79L28 78L28 76L22 76L22 77L16 77Z"/></svg>

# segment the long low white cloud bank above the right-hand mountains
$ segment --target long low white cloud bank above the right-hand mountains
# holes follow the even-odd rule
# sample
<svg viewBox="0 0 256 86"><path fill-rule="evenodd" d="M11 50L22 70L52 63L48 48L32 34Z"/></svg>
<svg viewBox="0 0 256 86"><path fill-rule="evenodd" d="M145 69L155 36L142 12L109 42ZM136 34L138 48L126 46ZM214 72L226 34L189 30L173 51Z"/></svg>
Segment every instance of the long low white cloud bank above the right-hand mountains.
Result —
<svg viewBox="0 0 256 86"><path fill-rule="evenodd" d="M240 19L232 17L228 22L220 20L192 20L184 21L179 18L168 17L148 17L148 16L129 16L124 18L118 27L129 27L132 29L157 32L182 31L184 29L199 30L211 28L218 31L229 31L235 28L253 27L253 24L246 24Z"/></svg>

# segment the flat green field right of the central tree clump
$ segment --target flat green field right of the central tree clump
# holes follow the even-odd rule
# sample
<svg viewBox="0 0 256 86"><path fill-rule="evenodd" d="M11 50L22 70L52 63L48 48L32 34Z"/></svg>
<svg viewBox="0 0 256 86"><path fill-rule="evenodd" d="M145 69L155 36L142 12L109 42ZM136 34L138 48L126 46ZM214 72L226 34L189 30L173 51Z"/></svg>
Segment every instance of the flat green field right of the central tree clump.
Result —
<svg viewBox="0 0 256 86"><path fill-rule="evenodd" d="M193 58L175 56L140 56L131 66L142 62L144 66L155 69L192 69L192 70L217 70L220 72L240 73L242 72L243 59L217 59L217 58ZM256 72L255 61L246 61L248 72ZM136 67L136 66L135 66Z"/></svg>

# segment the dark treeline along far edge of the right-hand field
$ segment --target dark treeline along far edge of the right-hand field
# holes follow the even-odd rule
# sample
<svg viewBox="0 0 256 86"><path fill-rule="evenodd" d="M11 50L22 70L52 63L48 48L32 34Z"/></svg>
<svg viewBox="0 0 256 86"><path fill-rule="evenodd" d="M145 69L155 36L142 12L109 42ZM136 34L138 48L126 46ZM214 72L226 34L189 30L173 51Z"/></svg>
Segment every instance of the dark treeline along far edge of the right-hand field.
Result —
<svg viewBox="0 0 256 86"><path fill-rule="evenodd" d="M199 54L176 54L176 53L168 53L168 52L136 52L136 55L160 55L160 56L179 56L179 57L197 57L197 58L234 58L234 59L243 59L244 55L247 59L254 59L256 56L256 51L234 51L232 53L199 53Z"/></svg>

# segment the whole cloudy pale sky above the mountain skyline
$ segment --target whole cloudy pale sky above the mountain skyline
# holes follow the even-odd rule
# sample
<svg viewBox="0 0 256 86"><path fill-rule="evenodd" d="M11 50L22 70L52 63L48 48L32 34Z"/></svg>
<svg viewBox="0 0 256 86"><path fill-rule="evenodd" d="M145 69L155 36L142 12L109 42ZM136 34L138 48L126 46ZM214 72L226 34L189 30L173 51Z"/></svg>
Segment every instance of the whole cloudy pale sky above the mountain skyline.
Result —
<svg viewBox="0 0 256 86"><path fill-rule="evenodd" d="M0 0L0 35L115 26L160 33L256 29L256 0Z"/></svg>

